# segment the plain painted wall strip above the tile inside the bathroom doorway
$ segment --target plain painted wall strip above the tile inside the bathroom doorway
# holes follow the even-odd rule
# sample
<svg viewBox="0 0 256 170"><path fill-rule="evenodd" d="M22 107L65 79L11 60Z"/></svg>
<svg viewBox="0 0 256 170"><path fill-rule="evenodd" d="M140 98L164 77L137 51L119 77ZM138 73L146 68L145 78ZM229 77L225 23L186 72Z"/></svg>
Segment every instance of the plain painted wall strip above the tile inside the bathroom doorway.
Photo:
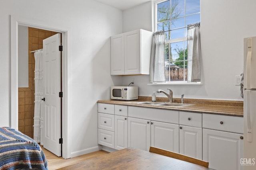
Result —
<svg viewBox="0 0 256 170"><path fill-rule="evenodd" d="M18 26L18 87L28 87L28 27Z"/></svg>

